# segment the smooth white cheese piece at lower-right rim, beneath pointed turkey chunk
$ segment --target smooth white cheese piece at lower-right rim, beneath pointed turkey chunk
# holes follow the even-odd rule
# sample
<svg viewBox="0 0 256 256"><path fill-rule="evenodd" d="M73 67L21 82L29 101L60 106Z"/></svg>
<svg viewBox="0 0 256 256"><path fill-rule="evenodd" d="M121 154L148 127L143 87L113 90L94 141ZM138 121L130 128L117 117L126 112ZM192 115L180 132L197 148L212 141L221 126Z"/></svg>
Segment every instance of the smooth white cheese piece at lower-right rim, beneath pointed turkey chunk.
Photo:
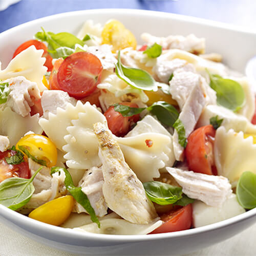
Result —
<svg viewBox="0 0 256 256"><path fill-rule="evenodd" d="M193 226L202 227L224 221L243 214L245 209L238 203L235 194L231 194L221 207L212 207L203 202L193 203Z"/></svg>

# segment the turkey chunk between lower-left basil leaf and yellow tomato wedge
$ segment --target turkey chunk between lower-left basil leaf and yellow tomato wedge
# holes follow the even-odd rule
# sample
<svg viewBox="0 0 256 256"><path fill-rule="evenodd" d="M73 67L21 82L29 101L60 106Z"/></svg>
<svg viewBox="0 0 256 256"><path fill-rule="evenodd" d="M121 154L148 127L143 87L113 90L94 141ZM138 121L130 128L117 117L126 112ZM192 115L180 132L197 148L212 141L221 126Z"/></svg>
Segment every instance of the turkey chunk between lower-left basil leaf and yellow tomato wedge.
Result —
<svg viewBox="0 0 256 256"><path fill-rule="evenodd" d="M30 201L22 208L23 212L29 212L54 198L66 195L66 186L64 183L66 178L65 173L61 170L60 175L55 173L51 176L50 168L42 166L29 158L31 175L40 167L42 167L42 169L33 180L35 187L34 194Z"/></svg>

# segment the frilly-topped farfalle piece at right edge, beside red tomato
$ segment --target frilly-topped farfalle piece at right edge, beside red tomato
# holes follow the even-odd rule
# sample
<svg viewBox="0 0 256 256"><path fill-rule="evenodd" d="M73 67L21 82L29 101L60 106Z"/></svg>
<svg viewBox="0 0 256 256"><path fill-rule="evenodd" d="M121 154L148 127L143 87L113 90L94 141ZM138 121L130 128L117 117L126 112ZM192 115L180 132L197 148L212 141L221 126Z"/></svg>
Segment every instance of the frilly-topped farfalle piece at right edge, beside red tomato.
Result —
<svg viewBox="0 0 256 256"><path fill-rule="evenodd" d="M256 174L256 144L252 137L244 139L243 132L219 127L215 136L214 157L218 175L227 177L235 187L243 172Z"/></svg>

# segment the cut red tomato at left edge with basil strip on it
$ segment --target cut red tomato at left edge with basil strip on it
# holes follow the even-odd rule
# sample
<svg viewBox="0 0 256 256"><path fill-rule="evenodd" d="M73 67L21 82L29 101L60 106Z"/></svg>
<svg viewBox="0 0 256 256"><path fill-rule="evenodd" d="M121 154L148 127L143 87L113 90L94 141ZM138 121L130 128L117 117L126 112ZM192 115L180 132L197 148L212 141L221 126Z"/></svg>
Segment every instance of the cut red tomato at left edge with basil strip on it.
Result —
<svg viewBox="0 0 256 256"><path fill-rule="evenodd" d="M16 152L13 150L0 152L0 182L11 177L30 178L30 170L27 162L20 164L8 164L6 162L6 157L14 155L16 155Z"/></svg>

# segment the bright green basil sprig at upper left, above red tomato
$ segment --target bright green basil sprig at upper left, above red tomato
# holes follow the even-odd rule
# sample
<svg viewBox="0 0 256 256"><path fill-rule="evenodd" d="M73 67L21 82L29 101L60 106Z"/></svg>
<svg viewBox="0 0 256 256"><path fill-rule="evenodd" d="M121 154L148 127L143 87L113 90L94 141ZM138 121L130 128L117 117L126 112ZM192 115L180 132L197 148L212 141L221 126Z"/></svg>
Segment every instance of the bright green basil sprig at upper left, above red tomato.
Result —
<svg viewBox="0 0 256 256"><path fill-rule="evenodd" d="M84 46L84 42L71 33L61 32L55 34L53 32L46 32L43 28L41 29L42 32L37 32L34 37L37 40L48 42L49 53L53 58L57 57L56 49L60 47L75 49L76 44Z"/></svg>

